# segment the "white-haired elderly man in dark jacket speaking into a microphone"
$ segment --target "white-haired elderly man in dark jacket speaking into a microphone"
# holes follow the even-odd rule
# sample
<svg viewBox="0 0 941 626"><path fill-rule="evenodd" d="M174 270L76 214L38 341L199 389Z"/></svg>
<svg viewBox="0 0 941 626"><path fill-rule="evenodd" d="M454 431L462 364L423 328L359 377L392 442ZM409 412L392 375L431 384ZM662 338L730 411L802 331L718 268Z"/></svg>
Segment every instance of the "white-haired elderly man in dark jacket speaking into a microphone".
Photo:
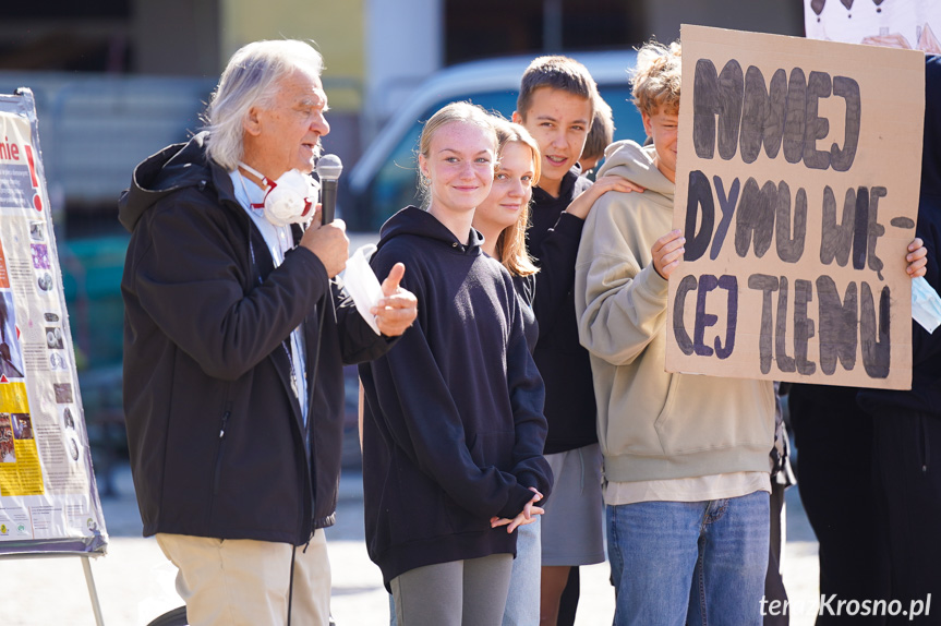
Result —
<svg viewBox="0 0 941 626"><path fill-rule="evenodd" d="M335 280L349 241L310 173L327 96L303 41L229 61L207 129L134 170L124 411L144 535L179 568L190 624L327 624L342 365L415 317L395 267L376 335Z"/></svg>

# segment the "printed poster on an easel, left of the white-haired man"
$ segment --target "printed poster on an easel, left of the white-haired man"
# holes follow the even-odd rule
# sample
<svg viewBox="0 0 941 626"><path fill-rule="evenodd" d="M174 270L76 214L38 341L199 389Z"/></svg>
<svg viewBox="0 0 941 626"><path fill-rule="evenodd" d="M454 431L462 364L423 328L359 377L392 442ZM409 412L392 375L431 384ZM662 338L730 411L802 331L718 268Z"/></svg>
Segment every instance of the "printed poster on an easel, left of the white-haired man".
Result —
<svg viewBox="0 0 941 626"><path fill-rule="evenodd" d="M0 555L104 552L33 95L0 95Z"/></svg>

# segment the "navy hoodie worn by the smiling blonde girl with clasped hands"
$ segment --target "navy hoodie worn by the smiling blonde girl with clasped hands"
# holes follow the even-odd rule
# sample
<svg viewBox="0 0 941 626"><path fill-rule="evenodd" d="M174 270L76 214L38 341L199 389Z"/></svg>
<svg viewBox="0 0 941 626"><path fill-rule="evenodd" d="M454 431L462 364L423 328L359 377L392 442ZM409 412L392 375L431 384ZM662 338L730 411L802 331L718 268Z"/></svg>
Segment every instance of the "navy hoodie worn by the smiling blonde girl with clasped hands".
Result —
<svg viewBox="0 0 941 626"><path fill-rule="evenodd" d="M548 495L544 387L509 273L431 214L408 207L381 231L372 266L406 264L419 314L395 348L360 366L370 557L389 581L410 569L516 552L492 529Z"/></svg>

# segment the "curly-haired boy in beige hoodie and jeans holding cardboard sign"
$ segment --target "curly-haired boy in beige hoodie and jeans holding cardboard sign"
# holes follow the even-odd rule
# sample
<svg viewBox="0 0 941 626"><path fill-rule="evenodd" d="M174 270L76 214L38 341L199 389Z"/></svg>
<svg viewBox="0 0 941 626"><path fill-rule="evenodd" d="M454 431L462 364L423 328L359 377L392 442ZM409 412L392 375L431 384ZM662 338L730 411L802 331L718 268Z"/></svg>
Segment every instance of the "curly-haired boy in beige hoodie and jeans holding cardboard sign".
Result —
<svg viewBox="0 0 941 626"><path fill-rule="evenodd" d="M638 55L635 104L653 144L611 145L607 193L576 262L579 337L591 354L604 455L615 624L761 624L768 566L770 382L664 372L680 49ZM663 234L666 232L666 234ZM661 237L662 236L662 237Z"/></svg>

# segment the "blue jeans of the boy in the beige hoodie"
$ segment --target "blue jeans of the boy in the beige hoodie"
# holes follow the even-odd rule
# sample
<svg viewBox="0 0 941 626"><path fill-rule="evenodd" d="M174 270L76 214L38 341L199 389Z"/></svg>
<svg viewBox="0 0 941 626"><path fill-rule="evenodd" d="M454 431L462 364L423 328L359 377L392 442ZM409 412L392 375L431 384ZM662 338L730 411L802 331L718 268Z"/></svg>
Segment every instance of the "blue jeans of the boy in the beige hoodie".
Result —
<svg viewBox="0 0 941 626"><path fill-rule="evenodd" d="M615 626L760 626L769 497L607 507Z"/></svg>

